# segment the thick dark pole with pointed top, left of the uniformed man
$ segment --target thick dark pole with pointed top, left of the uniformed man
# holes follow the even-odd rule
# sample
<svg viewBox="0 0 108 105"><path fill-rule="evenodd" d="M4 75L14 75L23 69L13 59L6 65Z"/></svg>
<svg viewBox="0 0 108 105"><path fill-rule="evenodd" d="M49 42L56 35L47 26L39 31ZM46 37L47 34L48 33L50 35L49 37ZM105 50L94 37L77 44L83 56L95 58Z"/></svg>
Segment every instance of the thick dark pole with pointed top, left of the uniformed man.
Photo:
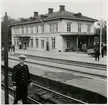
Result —
<svg viewBox="0 0 108 105"><path fill-rule="evenodd" d="M8 97L8 16L7 12L4 16L4 82L5 82L5 104L9 103Z"/></svg>

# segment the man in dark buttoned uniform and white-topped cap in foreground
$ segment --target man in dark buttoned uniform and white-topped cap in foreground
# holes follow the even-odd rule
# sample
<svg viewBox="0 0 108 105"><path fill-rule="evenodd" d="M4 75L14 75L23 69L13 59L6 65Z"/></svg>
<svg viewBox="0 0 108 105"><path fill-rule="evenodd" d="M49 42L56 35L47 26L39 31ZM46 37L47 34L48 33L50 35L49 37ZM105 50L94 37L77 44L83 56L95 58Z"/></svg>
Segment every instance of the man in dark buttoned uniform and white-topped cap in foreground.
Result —
<svg viewBox="0 0 108 105"><path fill-rule="evenodd" d="M31 84L31 78L28 66L24 64L26 56L19 56L19 64L13 67L12 81L13 88L16 89L16 97L14 104L17 104L18 100L22 99L23 104L26 104L28 84Z"/></svg>

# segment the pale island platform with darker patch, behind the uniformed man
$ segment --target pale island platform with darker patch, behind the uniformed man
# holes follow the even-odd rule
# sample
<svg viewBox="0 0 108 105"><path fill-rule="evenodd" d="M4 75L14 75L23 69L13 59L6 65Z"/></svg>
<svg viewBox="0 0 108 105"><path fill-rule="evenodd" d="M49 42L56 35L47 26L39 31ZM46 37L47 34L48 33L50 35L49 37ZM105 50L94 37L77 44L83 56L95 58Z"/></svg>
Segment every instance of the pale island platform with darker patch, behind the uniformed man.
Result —
<svg viewBox="0 0 108 105"><path fill-rule="evenodd" d="M32 61L28 59L29 61ZM9 67L16 65L18 61L9 60ZM41 67L40 65L34 65L27 63L30 69L30 73L38 76L42 76L54 81L59 81L68 85L76 86L82 89L86 89L92 92L96 92L107 97L107 80L88 78L75 73L69 73L63 70L52 69L49 67ZM94 71L97 72L97 71ZM99 70L97 73L102 73ZM107 75L107 74L106 74Z"/></svg>

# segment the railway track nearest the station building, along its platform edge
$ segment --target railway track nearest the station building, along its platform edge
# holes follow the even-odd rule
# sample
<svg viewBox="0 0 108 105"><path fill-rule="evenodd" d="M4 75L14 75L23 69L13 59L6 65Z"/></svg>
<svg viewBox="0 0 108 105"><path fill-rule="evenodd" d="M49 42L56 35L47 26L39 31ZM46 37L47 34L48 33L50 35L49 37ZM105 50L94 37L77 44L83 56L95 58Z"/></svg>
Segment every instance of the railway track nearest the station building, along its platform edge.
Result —
<svg viewBox="0 0 108 105"><path fill-rule="evenodd" d="M64 59L56 59L56 58L49 58L49 57L41 57L41 56L33 56L25 54L28 59L38 60L38 61L45 61L45 62L52 62L52 63L59 63L65 65L73 65L78 67L85 67L97 70L107 70L107 66L103 64L94 64L94 63L87 63L87 62L80 62L80 61L72 61L72 60L64 60ZM19 56L19 54L15 53L12 56Z"/></svg>

